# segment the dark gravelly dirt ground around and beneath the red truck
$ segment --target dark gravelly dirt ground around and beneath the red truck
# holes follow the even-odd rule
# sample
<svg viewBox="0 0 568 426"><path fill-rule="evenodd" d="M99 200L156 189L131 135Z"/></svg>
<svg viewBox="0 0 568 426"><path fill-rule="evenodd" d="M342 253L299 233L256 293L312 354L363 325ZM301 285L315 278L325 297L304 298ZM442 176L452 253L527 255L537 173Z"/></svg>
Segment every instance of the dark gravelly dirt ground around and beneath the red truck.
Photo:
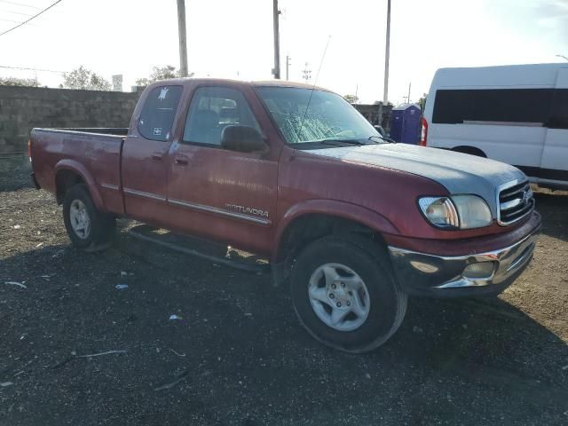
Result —
<svg viewBox="0 0 568 426"><path fill-rule="evenodd" d="M51 194L0 173L0 425L568 424L568 193L537 197L504 294L412 299L389 343L347 355L269 276L123 232L81 253Z"/></svg>

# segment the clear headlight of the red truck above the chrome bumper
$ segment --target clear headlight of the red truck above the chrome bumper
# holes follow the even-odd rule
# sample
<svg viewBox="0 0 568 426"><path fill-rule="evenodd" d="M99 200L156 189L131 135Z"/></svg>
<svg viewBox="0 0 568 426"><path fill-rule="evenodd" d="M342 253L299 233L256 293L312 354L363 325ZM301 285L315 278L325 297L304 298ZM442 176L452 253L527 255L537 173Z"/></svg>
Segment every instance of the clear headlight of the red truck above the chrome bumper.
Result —
<svg viewBox="0 0 568 426"><path fill-rule="evenodd" d="M477 195L423 197L418 205L430 223L439 228L480 228L493 221L489 206Z"/></svg>

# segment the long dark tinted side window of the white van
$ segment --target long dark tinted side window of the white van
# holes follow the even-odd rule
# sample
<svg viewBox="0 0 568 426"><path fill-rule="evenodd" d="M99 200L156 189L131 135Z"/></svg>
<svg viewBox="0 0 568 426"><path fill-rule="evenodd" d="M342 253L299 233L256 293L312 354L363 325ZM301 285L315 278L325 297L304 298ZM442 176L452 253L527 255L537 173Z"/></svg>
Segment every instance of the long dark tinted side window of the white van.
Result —
<svg viewBox="0 0 568 426"><path fill-rule="evenodd" d="M553 89L439 90L432 122L523 122L548 125Z"/></svg>

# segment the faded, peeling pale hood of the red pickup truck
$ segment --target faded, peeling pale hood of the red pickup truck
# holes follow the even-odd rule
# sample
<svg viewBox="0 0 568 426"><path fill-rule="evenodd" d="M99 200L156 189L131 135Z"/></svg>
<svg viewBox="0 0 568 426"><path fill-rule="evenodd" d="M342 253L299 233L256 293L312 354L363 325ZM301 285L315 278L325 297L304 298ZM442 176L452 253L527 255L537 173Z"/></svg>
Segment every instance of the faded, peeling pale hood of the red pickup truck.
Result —
<svg viewBox="0 0 568 426"><path fill-rule="evenodd" d="M497 214L497 187L525 174L509 164L444 149L406 144L341 146L309 151L367 167L405 171L427 177L446 187L451 194L474 193ZM429 194L424 194L429 195Z"/></svg>

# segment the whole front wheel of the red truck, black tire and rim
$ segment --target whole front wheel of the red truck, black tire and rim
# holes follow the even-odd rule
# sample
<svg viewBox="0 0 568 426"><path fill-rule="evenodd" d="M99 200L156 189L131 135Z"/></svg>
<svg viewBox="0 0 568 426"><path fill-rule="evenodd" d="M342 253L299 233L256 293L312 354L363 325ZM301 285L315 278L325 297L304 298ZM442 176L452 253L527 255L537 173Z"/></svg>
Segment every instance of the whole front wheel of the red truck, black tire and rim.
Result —
<svg viewBox="0 0 568 426"><path fill-rule="evenodd" d="M297 256L290 285L302 325L341 351L374 350L398 330L406 313L407 296L394 280L390 259L370 241L329 236L312 242Z"/></svg>

